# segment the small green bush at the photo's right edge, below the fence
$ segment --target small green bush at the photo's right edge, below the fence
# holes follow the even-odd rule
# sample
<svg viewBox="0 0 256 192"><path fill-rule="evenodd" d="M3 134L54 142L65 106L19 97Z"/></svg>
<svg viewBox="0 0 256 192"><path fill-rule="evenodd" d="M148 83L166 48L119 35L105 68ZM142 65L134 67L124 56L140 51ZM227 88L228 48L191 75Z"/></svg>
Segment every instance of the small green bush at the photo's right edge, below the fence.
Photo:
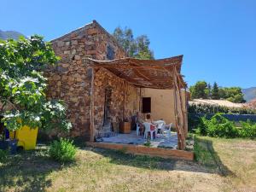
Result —
<svg viewBox="0 0 256 192"><path fill-rule="evenodd" d="M241 129L239 130L239 136L240 137L250 137L255 138L256 137L256 124L250 121L249 119L244 122L241 121Z"/></svg>

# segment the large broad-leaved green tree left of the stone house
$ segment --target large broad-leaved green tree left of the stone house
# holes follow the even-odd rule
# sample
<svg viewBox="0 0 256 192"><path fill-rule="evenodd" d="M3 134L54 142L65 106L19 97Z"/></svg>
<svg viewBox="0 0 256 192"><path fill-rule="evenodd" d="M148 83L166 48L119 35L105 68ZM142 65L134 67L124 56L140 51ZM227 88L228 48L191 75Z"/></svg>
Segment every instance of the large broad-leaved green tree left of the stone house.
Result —
<svg viewBox="0 0 256 192"><path fill-rule="evenodd" d="M64 103L45 96L43 71L56 61L51 45L37 35L0 42L0 111L7 129L15 131L22 125L71 129Z"/></svg>

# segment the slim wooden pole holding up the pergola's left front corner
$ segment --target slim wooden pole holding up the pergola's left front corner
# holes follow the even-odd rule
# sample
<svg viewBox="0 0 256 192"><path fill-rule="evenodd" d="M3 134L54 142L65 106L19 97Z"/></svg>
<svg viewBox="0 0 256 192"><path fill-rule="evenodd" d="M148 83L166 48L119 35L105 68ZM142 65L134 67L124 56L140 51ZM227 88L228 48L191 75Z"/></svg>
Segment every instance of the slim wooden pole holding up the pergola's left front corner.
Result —
<svg viewBox="0 0 256 192"><path fill-rule="evenodd" d="M95 127L94 127L94 76L95 69L91 67L90 81L90 142L95 142Z"/></svg>

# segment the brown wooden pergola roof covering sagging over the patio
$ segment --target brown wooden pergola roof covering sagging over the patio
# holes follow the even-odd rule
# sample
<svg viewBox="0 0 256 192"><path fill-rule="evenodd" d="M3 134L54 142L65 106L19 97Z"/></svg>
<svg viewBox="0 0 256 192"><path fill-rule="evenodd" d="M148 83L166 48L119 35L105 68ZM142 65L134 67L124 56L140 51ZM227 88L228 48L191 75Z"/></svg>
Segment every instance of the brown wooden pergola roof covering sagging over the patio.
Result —
<svg viewBox="0 0 256 192"><path fill-rule="evenodd" d="M185 88L180 74L183 55L160 60L140 60L123 58L111 61L97 61L87 58L93 67L104 67L121 79L137 87L153 89L172 89L177 75L180 88Z"/></svg>

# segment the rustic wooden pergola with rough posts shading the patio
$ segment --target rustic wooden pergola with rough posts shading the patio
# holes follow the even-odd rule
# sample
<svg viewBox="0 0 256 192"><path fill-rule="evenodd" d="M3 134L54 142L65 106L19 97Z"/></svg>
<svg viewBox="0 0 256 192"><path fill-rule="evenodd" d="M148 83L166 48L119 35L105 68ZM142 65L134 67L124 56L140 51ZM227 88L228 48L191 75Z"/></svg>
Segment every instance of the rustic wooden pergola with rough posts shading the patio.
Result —
<svg viewBox="0 0 256 192"><path fill-rule="evenodd" d="M93 121L94 108L94 73L98 68L105 68L121 79L138 88L153 89L173 89L175 125L177 128L177 146L179 149L185 148L185 137L187 134L186 112L183 110L183 96L181 89L186 89L187 85L180 74L183 55L178 55L160 60L139 60L135 58L123 58L112 61L97 61L86 58L86 63L92 67L91 84L91 122ZM185 94L186 95L186 94ZM93 130L93 123L91 123Z"/></svg>

